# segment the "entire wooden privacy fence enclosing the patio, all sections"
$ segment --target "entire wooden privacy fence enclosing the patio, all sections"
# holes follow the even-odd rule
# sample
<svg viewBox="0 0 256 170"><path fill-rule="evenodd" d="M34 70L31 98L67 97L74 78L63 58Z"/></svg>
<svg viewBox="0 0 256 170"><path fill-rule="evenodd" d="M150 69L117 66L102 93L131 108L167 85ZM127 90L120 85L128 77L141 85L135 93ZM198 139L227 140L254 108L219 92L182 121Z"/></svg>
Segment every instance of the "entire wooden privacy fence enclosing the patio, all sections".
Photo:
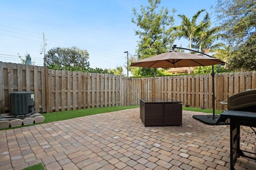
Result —
<svg viewBox="0 0 256 170"><path fill-rule="evenodd" d="M256 72L215 76L216 109L229 96L256 88ZM126 78L120 75L48 70L0 62L0 114L9 113L10 92L32 91L37 112L131 106L140 98L175 98L190 107L212 108L210 74Z"/></svg>

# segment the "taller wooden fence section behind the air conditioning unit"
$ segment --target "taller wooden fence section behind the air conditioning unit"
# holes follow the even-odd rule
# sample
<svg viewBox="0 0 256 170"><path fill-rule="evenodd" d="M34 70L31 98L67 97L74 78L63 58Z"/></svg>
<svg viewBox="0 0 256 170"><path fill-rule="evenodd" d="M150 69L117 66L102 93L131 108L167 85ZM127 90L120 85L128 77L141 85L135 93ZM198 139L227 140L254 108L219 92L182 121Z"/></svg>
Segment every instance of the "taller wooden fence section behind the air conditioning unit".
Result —
<svg viewBox="0 0 256 170"><path fill-rule="evenodd" d="M0 62L0 113L9 113L10 92L33 91L35 109L46 111L45 67Z"/></svg>

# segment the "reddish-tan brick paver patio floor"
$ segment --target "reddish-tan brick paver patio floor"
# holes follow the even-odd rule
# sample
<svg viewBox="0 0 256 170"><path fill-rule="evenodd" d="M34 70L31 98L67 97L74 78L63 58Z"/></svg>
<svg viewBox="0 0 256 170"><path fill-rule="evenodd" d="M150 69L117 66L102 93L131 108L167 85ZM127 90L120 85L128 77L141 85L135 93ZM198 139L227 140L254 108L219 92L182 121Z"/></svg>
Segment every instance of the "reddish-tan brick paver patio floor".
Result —
<svg viewBox="0 0 256 170"><path fill-rule="evenodd" d="M0 131L0 169L42 162L46 170L228 170L229 126L205 125L183 111L182 127L144 127L139 108ZM241 138L255 143L248 127ZM249 133L247 133L247 132ZM252 151L250 143L242 149ZM236 170L256 169L238 158Z"/></svg>

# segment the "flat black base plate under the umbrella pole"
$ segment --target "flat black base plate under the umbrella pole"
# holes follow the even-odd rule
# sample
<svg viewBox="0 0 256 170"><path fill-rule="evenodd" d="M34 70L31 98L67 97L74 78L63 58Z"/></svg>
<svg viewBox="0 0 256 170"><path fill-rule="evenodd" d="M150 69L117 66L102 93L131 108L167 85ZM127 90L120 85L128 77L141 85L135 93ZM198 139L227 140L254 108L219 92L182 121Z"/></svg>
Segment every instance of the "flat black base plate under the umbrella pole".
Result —
<svg viewBox="0 0 256 170"><path fill-rule="evenodd" d="M213 119L213 115L193 115L193 118L206 124L206 125L217 125L216 122L220 118L220 115L215 115L215 119ZM229 125L227 122L220 122L218 125Z"/></svg>

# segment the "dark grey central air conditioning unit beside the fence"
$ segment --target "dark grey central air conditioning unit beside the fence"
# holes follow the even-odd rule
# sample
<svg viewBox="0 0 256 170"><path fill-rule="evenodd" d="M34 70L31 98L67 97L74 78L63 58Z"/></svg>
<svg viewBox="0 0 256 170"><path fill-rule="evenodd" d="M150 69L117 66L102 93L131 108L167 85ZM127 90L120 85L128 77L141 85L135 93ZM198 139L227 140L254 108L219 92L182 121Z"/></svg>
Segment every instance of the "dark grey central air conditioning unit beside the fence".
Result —
<svg viewBox="0 0 256 170"><path fill-rule="evenodd" d="M32 113L35 105L34 92L10 92L10 115Z"/></svg>

